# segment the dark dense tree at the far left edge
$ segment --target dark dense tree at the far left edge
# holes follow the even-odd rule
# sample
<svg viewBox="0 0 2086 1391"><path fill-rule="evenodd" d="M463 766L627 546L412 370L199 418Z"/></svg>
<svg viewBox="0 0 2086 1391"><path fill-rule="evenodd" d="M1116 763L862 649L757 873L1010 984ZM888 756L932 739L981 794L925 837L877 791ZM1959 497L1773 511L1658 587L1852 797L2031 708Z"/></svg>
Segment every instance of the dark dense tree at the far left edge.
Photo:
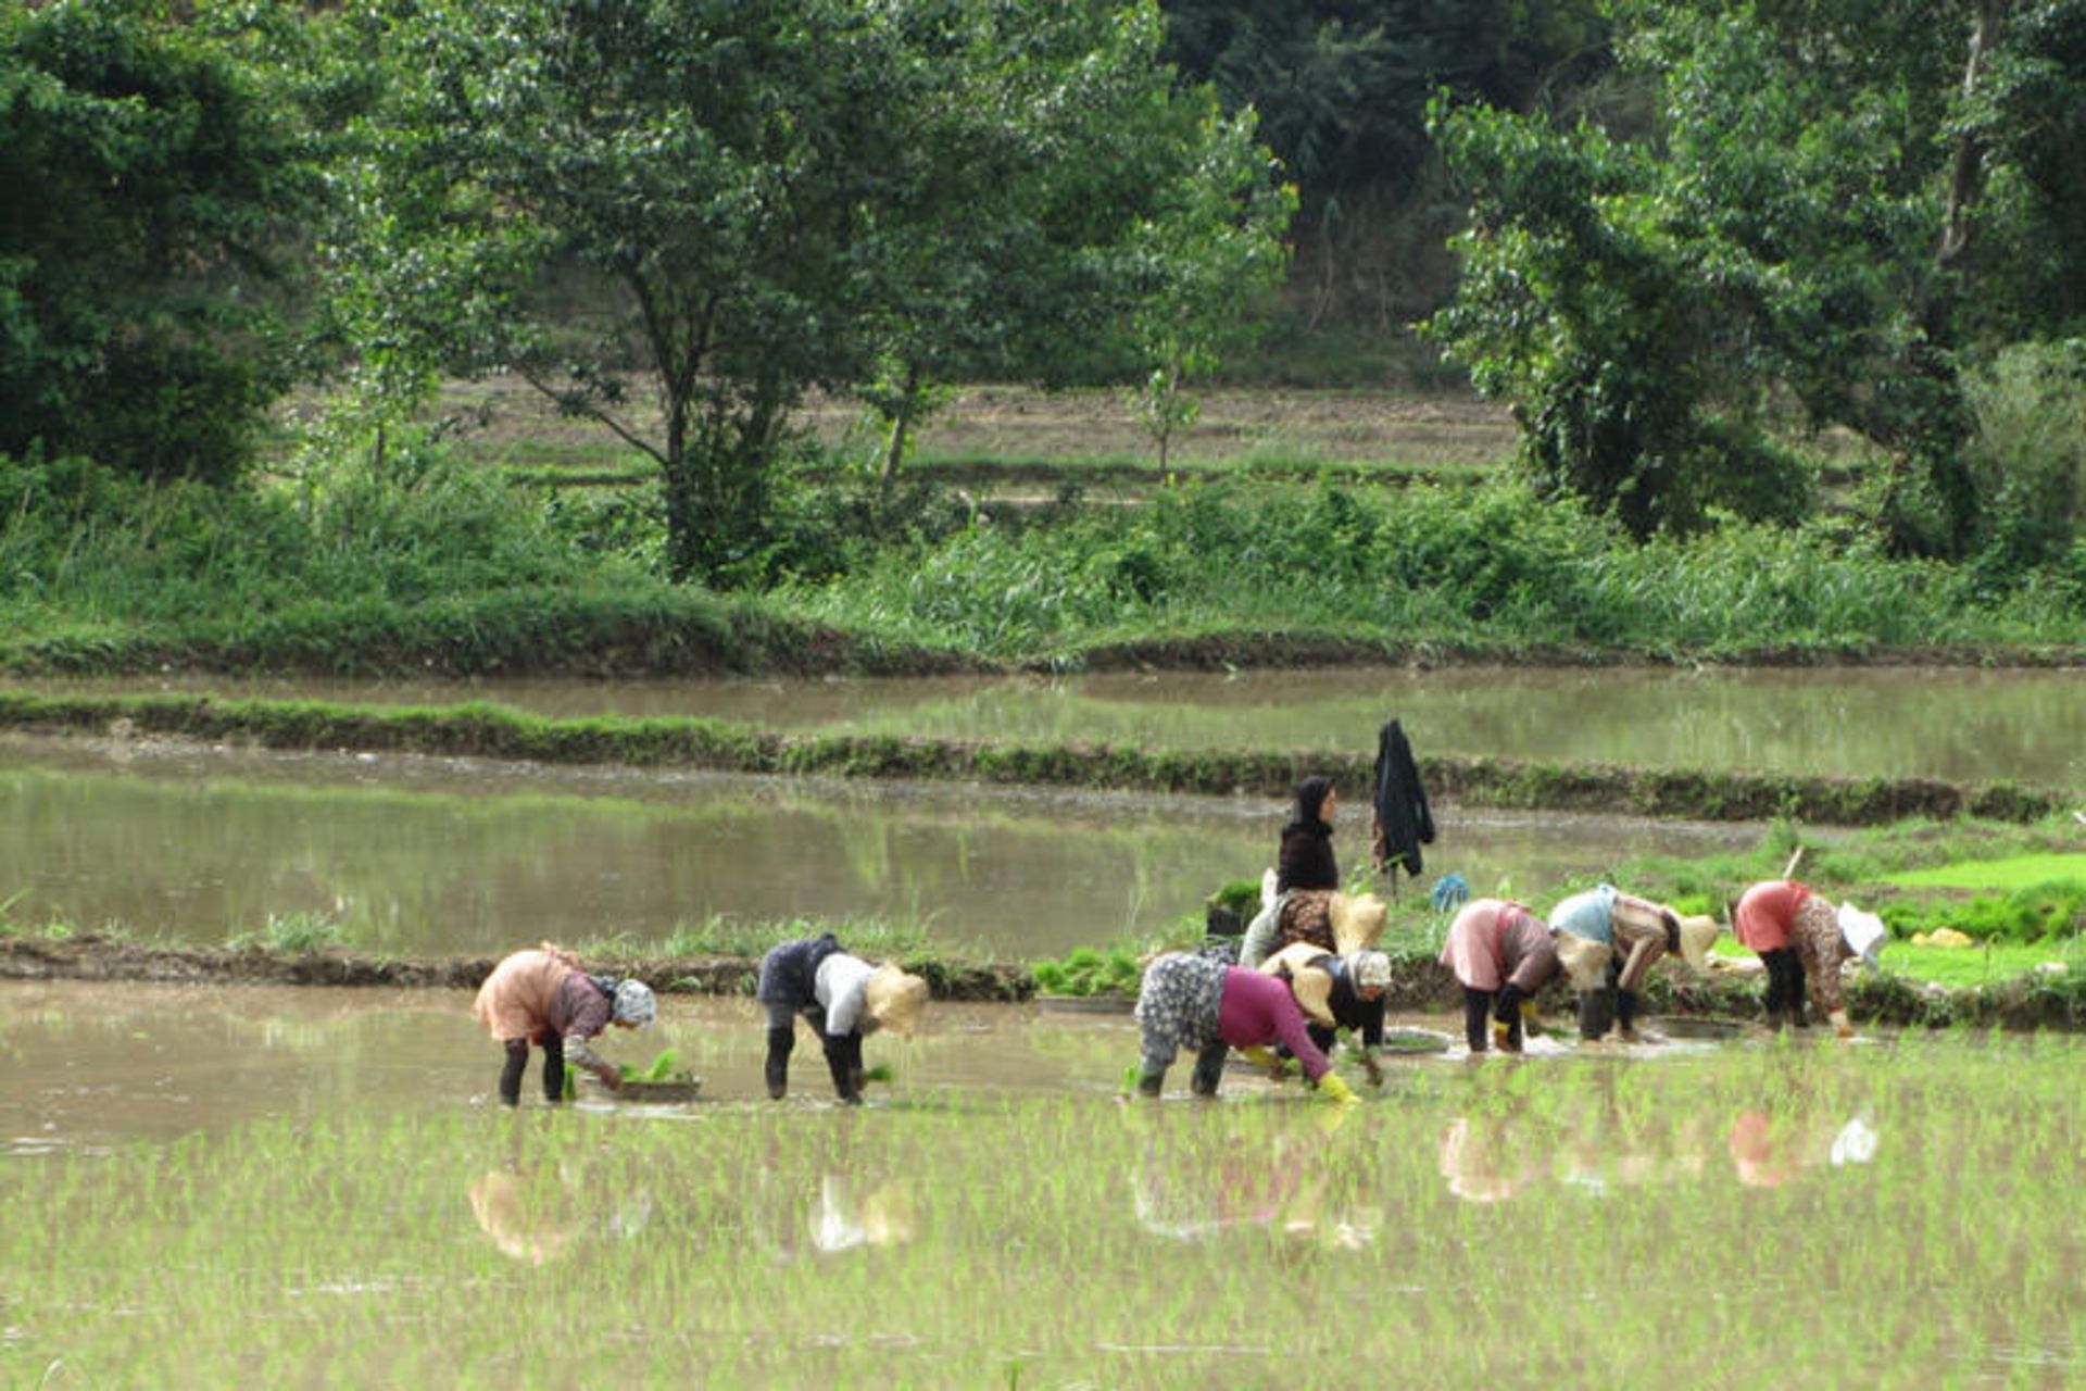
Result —
<svg viewBox="0 0 2086 1391"><path fill-rule="evenodd" d="M267 282L296 173L204 29L0 8L0 453L236 478L286 375Z"/></svg>

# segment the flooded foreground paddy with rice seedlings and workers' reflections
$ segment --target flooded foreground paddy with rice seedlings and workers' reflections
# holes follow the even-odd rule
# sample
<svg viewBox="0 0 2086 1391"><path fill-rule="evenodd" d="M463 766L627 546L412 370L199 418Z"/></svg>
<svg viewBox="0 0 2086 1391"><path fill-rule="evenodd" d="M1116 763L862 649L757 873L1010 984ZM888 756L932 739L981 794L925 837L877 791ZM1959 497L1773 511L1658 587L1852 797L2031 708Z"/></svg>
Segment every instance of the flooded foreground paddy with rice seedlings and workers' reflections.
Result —
<svg viewBox="0 0 2086 1391"><path fill-rule="evenodd" d="M668 1001L611 1053L703 1101L507 1112L446 993L117 995L0 995L4 1387L2086 1383L2073 1034L1546 1036L1341 1112L937 1007L843 1109Z"/></svg>

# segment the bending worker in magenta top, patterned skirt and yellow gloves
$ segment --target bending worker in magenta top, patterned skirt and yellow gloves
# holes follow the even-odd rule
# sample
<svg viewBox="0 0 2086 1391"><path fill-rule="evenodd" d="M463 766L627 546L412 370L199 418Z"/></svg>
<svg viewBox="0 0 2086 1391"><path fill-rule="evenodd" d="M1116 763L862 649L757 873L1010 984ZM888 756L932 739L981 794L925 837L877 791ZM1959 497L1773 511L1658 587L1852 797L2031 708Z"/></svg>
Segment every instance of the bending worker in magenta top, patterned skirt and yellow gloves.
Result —
<svg viewBox="0 0 2086 1391"><path fill-rule="evenodd" d="M1166 1068L1181 1049L1195 1053L1189 1087L1197 1097L1214 1097L1229 1049L1245 1049L1256 1061L1272 1061L1264 1049L1283 1043L1302 1064L1306 1084L1320 1097L1341 1103L1356 1099L1312 1043L1289 986L1275 976L1202 953L1168 951L1145 968L1137 1022L1143 1028L1137 1091L1145 1097L1160 1095Z"/></svg>

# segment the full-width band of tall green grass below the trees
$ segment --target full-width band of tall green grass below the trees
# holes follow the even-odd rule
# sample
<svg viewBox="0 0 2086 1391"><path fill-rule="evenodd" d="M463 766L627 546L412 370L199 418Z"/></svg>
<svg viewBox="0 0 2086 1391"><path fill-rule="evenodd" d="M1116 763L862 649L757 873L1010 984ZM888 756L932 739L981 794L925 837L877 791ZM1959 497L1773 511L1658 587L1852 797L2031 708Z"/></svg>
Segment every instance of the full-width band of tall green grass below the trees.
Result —
<svg viewBox="0 0 2086 1391"><path fill-rule="evenodd" d="M484 674L1078 663L1164 642L1654 659L2086 642L2063 565L1994 588L1832 519L1640 546L1514 484L1245 471L999 523L932 488L903 515L845 488L786 498L763 563L782 578L724 601L657 578L655 509L542 498L438 455L311 492L19 463L0 473L0 626L21 636L0 657Z"/></svg>

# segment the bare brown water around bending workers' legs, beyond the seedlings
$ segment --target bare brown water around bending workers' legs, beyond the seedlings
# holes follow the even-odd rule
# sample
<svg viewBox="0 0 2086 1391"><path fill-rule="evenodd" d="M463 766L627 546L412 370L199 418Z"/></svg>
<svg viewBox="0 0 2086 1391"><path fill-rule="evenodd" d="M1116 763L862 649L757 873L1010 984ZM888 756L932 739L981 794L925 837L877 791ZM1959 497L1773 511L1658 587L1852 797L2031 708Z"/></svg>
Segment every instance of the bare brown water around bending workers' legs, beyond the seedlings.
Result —
<svg viewBox="0 0 2086 1391"><path fill-rule="evenodd" d="M494 1107L501 1051L469 1005L461 991L0 982L0 1155L102 1151L284 1114ZM1408 1016L1389 1028L1446 1041L1460 1020ZM1548 1036L1535 1043L1537 1061L1573 1053ZM645 1066L674 1049L678 1068L703 1078L701 1107L766 1107L763 1047L753 1001L670 995L651 1030L615 1032L601 1051ZM937 1003L914 1039L872 1036L864 1047L870 1066L895 1074L870 1087L872 1103L941 1091L1108 1099L1137 1061L1137 1024L1129 1014L1053 1014L1033 1003ZM1679 1059L1708 1047L1667 1043L1633 1055L1602 1047L1583 1057ZM1168 1076L1170 1095L1187 1095L1189 1061ZM532 1055L524 1076L528 1107L542 1103L540 1064L542 1055ZM1431 1087L1429 1072L1464 1066L1460 1043L1437 1055L1398 1055L1387 1087ZM1256 1097L1281 1089L1235 1064L1222 1091ZM582 1084L576 1105L617 1103ZM809 1034L791 1059L789 1105L832 1107ZM686 1107L636 1109L686 1116Z"/></svg>

